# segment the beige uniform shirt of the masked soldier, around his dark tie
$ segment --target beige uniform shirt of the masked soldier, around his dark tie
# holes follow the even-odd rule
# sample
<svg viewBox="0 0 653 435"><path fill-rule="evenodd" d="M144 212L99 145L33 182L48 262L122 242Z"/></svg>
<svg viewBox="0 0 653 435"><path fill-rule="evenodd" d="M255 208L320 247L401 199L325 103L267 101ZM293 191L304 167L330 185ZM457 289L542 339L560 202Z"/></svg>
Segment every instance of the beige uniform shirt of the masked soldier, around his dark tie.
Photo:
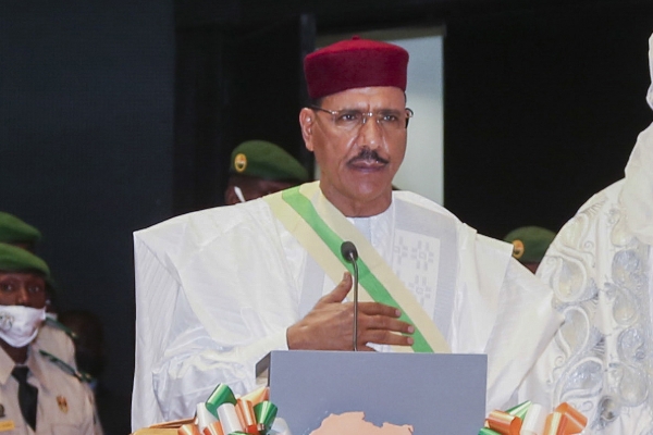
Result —
<svg viewBox="0 0 653 435"><path fill-rule="evenodd" d="M14 361L0 350L0 433L2 435L96 435L93 401L87 388L74 375L29 345L25 365L27 382L38 388L36 432L25 423L19 407L19 383L11 372Z"/></svg>

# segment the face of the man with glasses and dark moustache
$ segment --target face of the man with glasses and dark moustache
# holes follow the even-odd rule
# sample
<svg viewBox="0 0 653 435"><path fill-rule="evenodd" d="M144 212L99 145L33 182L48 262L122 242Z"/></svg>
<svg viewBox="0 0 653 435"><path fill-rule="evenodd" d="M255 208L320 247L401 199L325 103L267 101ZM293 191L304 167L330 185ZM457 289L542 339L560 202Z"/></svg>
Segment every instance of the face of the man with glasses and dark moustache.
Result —
<svg viewBox="0 0 653 435"><path fill-rule="evenodd" d="M322 99L329 111L405 113L404 92L395 87L355 88ZM406 128L382 127L374 117L343 129L330 113L305 108L299 115L306 147L320 165L320 188L347 216L378 214L392 201L392 179L406 152Z"/></svg>

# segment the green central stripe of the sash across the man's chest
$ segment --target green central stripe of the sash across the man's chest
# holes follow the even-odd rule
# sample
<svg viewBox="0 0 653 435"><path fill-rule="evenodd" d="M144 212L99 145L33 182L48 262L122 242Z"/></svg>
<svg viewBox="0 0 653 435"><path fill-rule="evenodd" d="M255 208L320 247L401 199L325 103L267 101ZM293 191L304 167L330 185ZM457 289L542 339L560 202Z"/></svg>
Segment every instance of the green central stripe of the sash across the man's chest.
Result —
<svg viewBox="0 0 653 435"><path fill-rule="evenodd" d="M333 229L320 217L316 211L312 202L299 192L299 187L293 187L282 192L283 200L291 206L308 225L316 232L318 236L324 241L333 254L343 263L343 265L350 272L354 273L354 268L341 254L341 245L343 239L335 234ZM395 307L402 311L399 320L410 323L415 326L414 322L406 315L404 310L394 300L390 291L381 284L381 282L374 276L362 259L358 259L358 272L360 284L370 294L372 299L377 302L384 303L386 306ZM424 336L415 326L415 333L412 334L412 350L422 353L433 353L433 349L426 340Z"/></svg>

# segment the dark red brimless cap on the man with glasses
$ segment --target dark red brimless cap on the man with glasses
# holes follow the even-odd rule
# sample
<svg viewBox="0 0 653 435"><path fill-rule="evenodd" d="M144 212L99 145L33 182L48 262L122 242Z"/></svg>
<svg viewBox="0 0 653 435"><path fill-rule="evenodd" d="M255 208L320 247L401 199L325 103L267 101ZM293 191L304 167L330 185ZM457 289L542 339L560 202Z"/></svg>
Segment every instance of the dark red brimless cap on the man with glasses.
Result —
<svg viewBox="0 0 653 435"><path fill-rule="evenodd" d="M360 39L335 42L304 59L312 99L352 88L394 86L406 90L408 52L393 44Z"/></svg>

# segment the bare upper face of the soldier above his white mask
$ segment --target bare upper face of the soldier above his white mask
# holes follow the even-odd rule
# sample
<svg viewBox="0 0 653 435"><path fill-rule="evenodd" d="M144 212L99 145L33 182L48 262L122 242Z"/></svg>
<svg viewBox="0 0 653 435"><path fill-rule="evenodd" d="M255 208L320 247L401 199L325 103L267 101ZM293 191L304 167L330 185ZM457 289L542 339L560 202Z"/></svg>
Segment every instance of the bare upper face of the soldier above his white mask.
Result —
<svg viewBox="0 0 653 435"><path fill-rule="evenodd" d="M23 272L0 272L0 306L46 306L46 282L38 275Z"/></svg>

